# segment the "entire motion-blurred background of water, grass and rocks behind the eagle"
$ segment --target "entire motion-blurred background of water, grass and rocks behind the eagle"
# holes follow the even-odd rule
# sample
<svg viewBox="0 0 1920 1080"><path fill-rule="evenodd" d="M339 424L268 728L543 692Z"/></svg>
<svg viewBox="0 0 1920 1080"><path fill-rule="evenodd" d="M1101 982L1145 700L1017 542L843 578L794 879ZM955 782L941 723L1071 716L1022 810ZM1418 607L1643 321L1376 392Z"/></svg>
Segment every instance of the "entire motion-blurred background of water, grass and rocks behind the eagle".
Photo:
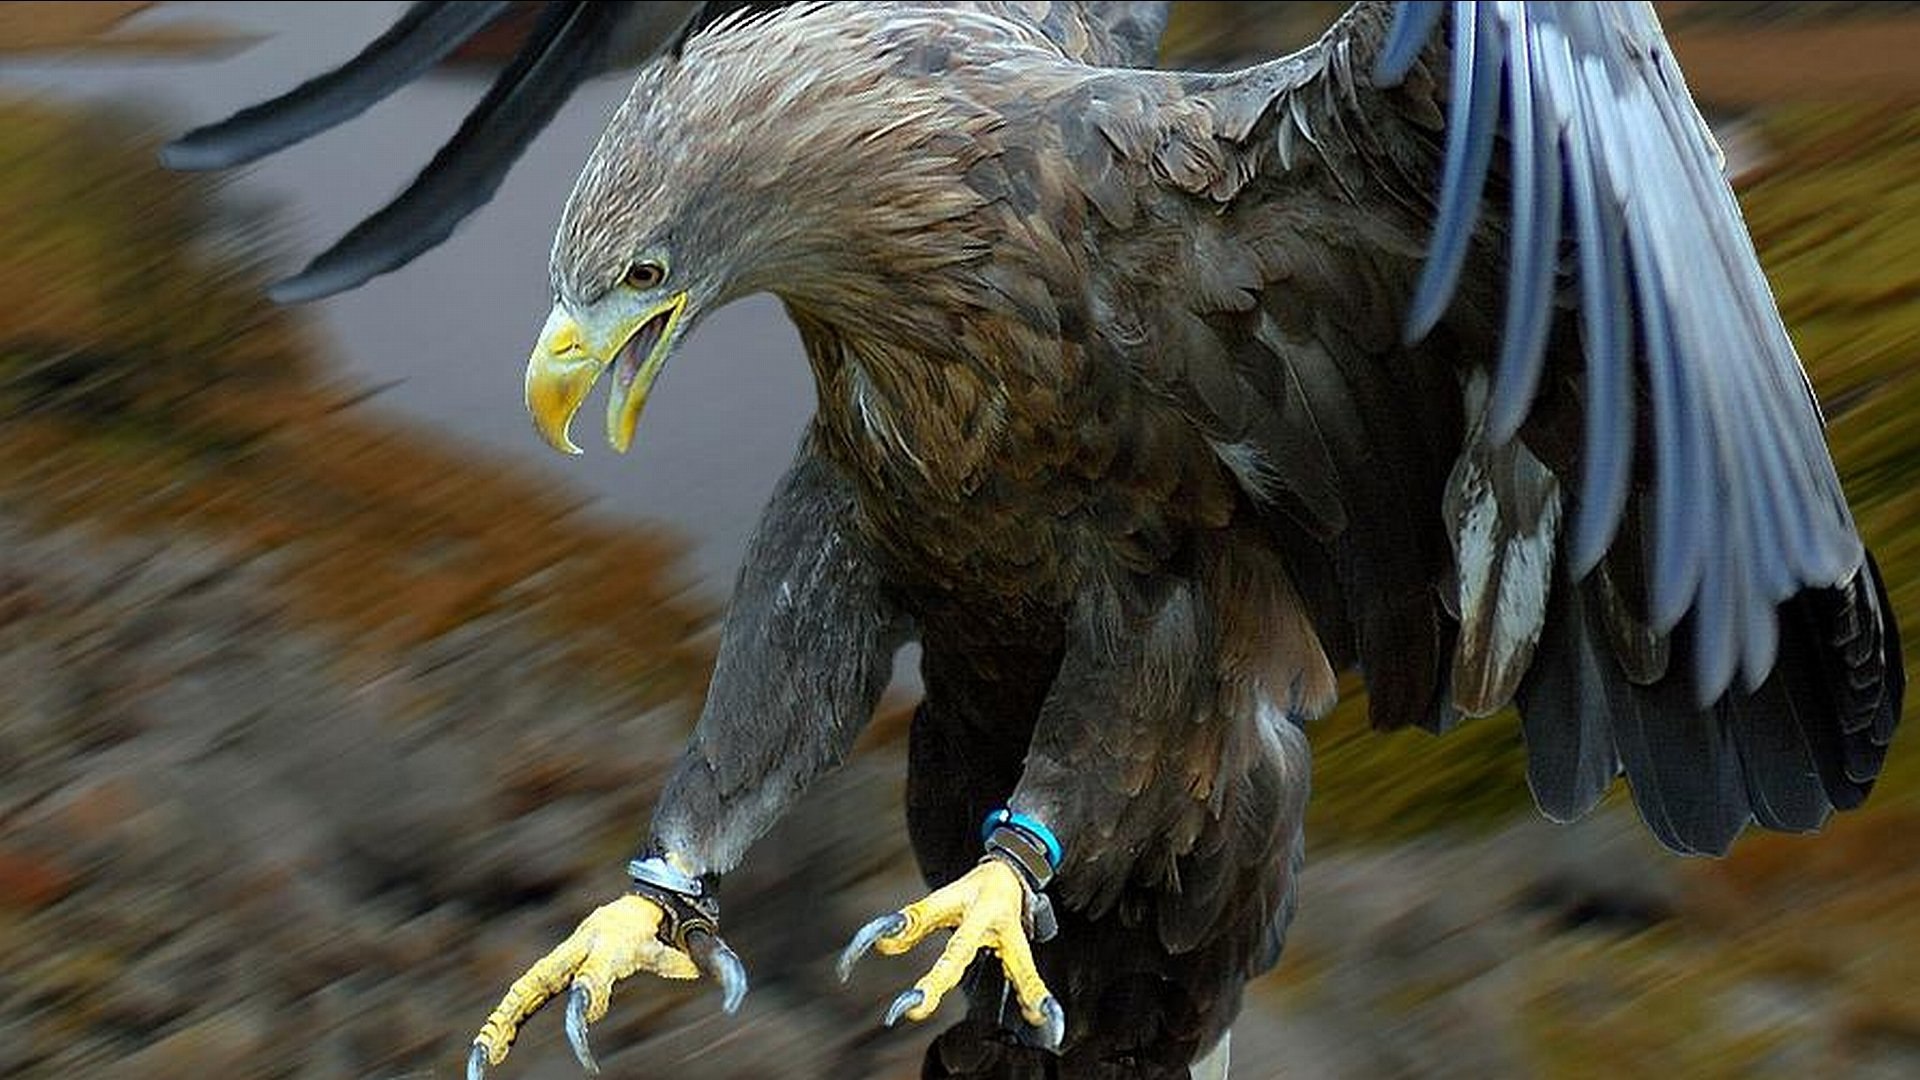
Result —
<svg viewBox="0 0 1920 1080"><path fill-rule="evenodd" d="M1659 8L1920 642L1920 6ZM756 298L676 357L630 457L532 434L551 229L622 79L449 244L263 302L411 179L495 50L238 177L154 152L399 10L0 6L0 1076L457 1076L622 888L812 409ZM1336 12L1181 4L1169 60L1273 56ZM877 1026L908 967L826 963L918 888L899 682L728 878L743 1013L624 984L609 1074L916 1074L931 1032ZM1824 836L1686 861L1619 798L1538 821L1511 717L1434 740L1359 713L1311 732L1302 915L1235 1076L1920 1074L1910 746ZM559 1028L503 1074L578 1076Z"/></svg>

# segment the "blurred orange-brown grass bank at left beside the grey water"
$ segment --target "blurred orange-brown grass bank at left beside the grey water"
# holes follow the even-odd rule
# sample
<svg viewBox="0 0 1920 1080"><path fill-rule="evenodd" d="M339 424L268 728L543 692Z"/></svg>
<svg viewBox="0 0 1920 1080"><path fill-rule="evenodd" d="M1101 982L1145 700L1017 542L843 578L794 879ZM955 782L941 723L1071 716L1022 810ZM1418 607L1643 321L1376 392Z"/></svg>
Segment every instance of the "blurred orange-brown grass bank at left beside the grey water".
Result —
<svg viewBox="0 0 1920 1080"><path fill-rule="evenodd" d="M515 609L636 705L701 692L678 544L355 407L263 298L261 223L161 171L144 125L0 100L0 150L6 511L269 557L369 657Z"/></svg>

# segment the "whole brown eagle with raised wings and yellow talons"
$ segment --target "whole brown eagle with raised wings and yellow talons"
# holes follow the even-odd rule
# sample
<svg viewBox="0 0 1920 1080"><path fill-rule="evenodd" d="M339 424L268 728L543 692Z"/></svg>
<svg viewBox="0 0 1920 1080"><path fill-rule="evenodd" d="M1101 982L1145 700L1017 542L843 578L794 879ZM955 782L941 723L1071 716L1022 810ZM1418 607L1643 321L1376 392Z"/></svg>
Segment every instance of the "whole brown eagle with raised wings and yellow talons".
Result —
<svg viewBox="0 0 1920 1080"><path fill-rule="evenodd" d="M227 167L340 123L505 13L415 4L344 67L190 133ZM1645 4L1354 4L1238 71L1156 67L1165 4L545 4L455 138L282 300L486 202L578 83L639 60L551 252L540 434L605 382L626 450L708 311L780 298L818 404L751 542L632 890L518 978L745 967L722 874L922 648L906 821L960 990L924 1076L1223 1076L1304 859L1306 724L1513 707L1555 821L1624 774L1720 853L1857 807L1901 711L1885 588L1820 407Z"/></svg>

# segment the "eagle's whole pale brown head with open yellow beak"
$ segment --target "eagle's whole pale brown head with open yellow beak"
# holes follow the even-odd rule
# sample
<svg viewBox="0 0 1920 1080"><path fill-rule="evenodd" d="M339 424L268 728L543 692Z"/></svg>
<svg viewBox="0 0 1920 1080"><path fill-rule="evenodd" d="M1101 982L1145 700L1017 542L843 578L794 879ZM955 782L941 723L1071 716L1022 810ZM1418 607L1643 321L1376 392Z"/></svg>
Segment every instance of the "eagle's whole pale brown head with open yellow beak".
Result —
<svg viewBox="0 0 1920 1080"><path fill-rule="evenodd" d="M897 336L937 325L943 271L989 250L964 177L998 117L902 73L876 19L795 6L641 71L553 242L526 407L555 450L580 452L572 417L612 371L607 440L626 452L678 342L739 296ZM908 315L927 325L887 325Z"/></svg>

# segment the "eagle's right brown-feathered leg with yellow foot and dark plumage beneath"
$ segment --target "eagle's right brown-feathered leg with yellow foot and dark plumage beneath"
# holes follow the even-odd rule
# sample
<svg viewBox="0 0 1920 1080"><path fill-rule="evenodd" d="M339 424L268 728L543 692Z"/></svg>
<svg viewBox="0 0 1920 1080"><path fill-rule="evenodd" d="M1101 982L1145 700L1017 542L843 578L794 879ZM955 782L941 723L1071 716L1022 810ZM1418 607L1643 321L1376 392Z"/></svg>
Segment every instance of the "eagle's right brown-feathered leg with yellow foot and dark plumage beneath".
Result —
<svg viewBox="0 0 1920 1080"><path fill-rule="evenodd" d="M954 701L929 678L908 799L929 884L954 884L856 942L899 953L935 926L916 917L950 915L954 936L897 1003L908 1019L931 1015L929 986L952 990L975 949L993 951L968 976L968 1020L935 1042L925 1076L1187 1080L1246 978L1277 959L1308 796L1292 715L1331 700L1325 657L1260 553L1212 552L1200 582L1112 600L1089 611L1119 625L1068 625L1039 707L995 711L998 688L1027 682L995 671ZM975 865L977 815L1002 794L1062 844L1050 940L1037 919L1023 926L1020 876ZM977 896L989 872L1006 896ZM945 911L956 894L970 903ZM1029 976L1039 986L1023 986ZM1064 1026L1048 1030L1035 1001L1062 1005Z"/></svg>

